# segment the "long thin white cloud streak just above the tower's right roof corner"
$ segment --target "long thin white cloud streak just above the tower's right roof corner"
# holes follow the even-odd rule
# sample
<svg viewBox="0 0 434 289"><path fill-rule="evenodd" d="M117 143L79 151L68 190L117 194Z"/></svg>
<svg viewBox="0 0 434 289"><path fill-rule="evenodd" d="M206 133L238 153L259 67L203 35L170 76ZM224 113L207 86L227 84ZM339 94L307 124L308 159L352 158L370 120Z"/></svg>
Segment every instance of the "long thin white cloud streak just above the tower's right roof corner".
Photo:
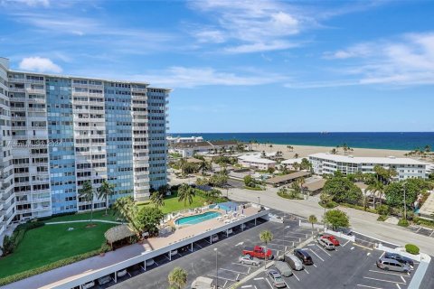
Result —
<svg viewBox="0 0 434 289"><path fill-rule="evenodd" d="M152 83L153 86L170 88L194 88L200 86L255 86L281 82L286 77L272 73L250 71L246 75L234 72L217 71L212 68L170 67L163 71L153 71L149 75L130 77Z"/></svg>

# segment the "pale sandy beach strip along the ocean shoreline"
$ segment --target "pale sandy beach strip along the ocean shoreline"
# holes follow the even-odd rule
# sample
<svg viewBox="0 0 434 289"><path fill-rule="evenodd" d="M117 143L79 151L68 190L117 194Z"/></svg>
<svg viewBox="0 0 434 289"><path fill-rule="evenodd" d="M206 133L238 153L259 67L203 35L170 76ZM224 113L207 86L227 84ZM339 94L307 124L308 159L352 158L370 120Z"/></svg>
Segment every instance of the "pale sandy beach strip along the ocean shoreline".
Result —
<svg viewBox="0 0 434 289"><path fill-rule="evenodd" d="M331 146L313 146L313 145L292 145L293 150L289 150L287 144L252 144L252 148L255 151L265 151L266 153L272 153L281 151L283 157L286 159L294 158L295 154L298 157L306 157L309 154L316 153L329 153L333 148ZM398 151L398 150L383 150L383 149L372 149L372 148L353 148L354 151L348 154L354 156L395 156L395 157L405 157L404 154L409 153L409 151ZM344 150L339 149L338 154L344 154Z"/></svg>

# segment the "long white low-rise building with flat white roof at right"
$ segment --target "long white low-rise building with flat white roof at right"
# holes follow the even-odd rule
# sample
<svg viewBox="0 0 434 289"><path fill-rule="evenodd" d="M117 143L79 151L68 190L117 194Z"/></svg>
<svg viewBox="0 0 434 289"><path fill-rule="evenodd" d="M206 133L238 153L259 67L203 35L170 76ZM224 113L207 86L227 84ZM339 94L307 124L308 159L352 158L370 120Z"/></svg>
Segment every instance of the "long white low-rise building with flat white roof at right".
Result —
<svg viewBox="0 0 434 289"><path fill-rule="evenodd" d="M376 165L385 169L394 169L398 175L397 180L408 178L427 178L427 166L429 163L420 162L410 158L390 157L355 157L340 154L310 154L309 161L316 174L335 173L344 174L354 172L373 172Z"/></svg>

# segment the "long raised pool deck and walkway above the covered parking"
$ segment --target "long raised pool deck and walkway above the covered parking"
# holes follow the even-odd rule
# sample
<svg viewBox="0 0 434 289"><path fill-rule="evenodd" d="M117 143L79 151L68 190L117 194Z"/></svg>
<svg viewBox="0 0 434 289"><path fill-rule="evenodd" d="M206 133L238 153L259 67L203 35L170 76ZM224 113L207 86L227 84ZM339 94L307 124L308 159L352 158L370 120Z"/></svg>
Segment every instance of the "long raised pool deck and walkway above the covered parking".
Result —
<svg viewBox="0 0 434 289"><path fill-rule="evenodd" d="M247 218L258 214L258 208L249 207L243 209L242 212ZM241 210L238 210L238 213L240 214ZM3 288L70 288L71 286L68 282L76 279L86 279L83 277L92 275L98 271L107 271L106 269L108 269L109 266L116 266L118 263L137 256L146 256L158 249L173 247L177 242L202 235L203 232L224 225L227 225L227 223L224 222L224 219L205 220L195 225L178 228L170 235L148 238L142 243L121 247L115 251L108 252L105 256L93 256L68 266L62 266L52 271L40 275L34 275L13 284L5 285ZM164 252L162 251L162 253Z"/></svg>

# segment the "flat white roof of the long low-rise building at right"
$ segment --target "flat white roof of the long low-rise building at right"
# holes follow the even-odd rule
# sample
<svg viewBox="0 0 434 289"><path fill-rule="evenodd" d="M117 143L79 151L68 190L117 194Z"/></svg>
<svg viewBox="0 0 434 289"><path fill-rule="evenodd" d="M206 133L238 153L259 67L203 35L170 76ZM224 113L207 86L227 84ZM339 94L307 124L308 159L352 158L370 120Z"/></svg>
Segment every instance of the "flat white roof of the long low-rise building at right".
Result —
<svg viewBox="0 0 434 289"><path fill-rule="evenodd" d="M393 157L393 156L365 157L365 156L352 156L352 155L342 155L342 154L317 153L317 154L310 154L309 158L310 157L331 160L339 163L385 163L385 164L421 164L421 165L429 164L407 157Z"/></svg>

